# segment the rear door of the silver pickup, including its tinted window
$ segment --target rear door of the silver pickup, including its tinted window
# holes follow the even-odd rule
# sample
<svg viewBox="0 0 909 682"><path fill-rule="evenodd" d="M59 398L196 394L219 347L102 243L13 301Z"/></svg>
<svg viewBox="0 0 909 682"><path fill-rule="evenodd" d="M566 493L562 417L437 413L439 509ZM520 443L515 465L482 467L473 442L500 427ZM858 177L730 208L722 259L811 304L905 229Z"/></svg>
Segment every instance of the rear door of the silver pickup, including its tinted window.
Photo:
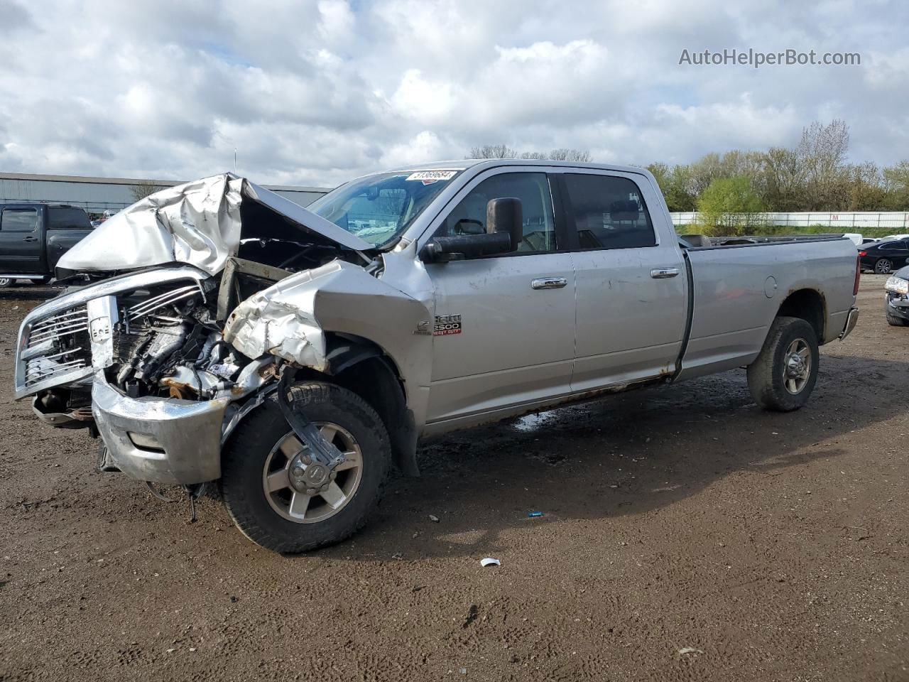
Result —
<svg viewBox="0 0 909 682"><path fill-rule="evenodd" d="M566 170L560 177L576 277L572 389L624 384L675 369L688 310L680 249L644 176Z"/></svg>

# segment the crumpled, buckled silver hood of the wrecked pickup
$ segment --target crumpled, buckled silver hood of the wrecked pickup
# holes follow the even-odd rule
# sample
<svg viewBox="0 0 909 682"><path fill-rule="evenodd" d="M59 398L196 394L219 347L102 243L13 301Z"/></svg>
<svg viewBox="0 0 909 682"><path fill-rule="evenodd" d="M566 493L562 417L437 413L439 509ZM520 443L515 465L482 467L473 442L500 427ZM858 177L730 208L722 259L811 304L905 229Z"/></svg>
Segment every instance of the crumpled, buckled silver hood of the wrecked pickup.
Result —
<svg viewBox="0 0 909 682"><path fill-rule="evenodd" d="M79 272L128 270L188 263L215 275L240 246L240 206L252 201L300 229L340 246L365 251L373 245L316 216L290 199L245 177L224 173L167 187L146 196L95 228L67 251L57 266Z"/></svg>

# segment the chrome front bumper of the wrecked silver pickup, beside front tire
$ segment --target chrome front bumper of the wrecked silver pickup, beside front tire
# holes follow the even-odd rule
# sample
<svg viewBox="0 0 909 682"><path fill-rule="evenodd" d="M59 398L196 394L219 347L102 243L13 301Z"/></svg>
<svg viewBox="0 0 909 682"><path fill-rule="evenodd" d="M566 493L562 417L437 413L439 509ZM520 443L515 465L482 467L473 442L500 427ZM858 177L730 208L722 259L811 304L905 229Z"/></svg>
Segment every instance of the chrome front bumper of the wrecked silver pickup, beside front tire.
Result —
<svg viewBox="0 0 909 682"><path fill-rule="evenodd" d="M127 476L155 483L221 477L221 426L229 402L130 398L97 376L92 387L92 414L110 458Z"/></svg>

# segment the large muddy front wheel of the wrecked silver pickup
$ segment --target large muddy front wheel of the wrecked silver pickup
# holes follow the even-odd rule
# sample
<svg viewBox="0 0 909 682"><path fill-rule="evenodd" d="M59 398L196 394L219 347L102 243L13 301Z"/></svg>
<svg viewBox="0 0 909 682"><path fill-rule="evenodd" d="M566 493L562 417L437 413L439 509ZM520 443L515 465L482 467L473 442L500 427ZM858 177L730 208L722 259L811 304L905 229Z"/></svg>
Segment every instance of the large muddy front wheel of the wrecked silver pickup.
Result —
<svg viewBox="0 0 909 682"><path fill-rule="evenodd" d="M237 426L225 446L220 480L227 512L257 545L285 554L350 537L378 504L391 464L385 425L365 401L340 386L306 382L288 393L293 408L345 452L323 492L291 485L290 467L305 446L275 396Z"/></svg>

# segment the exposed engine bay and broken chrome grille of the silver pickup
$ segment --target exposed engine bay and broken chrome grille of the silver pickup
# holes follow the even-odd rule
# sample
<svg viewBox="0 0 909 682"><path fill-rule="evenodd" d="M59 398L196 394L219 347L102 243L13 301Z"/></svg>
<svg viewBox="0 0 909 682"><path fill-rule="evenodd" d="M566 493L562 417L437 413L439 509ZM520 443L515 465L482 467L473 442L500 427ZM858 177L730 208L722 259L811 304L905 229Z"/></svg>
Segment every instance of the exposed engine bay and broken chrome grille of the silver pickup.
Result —
<svg viewBox="0 0 909 682"><path fill-rule="evenodd" d="M174 281L98 296L32 327L26 344L27 383L52 380L72 367L104 372L110 386L125 396L211 400L245 392L241 375L252 358L225 342L226 316L238 301L293 274L344 257L344 249L324 245L250 239L241 251L250 256L293 253L285 267L231 257L219 276L189 268ZM346 256L356 254L349 253ZM293 264L286 261L292 260ZM290 266L290 267L288 267ZM128 279L128 278L127 278ZM114 280L115 281L115 280ZM103 322L98 322L103 320ZM106 328L106 320L110 320ZM38 353L37 351L43 351ZM36 393L35 408L55 426L91 426L90 385L54 386ZM66 422L66 423L64 423Z"/></svg>

